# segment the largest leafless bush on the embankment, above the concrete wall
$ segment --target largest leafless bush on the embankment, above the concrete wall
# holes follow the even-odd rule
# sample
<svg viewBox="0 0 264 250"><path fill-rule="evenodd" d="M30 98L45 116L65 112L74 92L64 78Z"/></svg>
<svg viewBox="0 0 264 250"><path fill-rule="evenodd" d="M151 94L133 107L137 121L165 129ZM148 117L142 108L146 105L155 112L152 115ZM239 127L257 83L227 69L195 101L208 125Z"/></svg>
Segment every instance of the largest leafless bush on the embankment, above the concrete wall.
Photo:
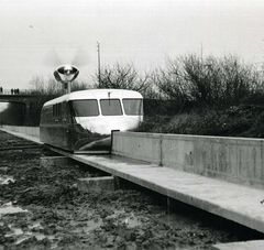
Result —
<svg viewBox="0 0 264 250"><path fill-rule="evenodd" d="M186 55L168 61L156 73L156 86L163 98L185 106L228 107L263 91L263 80L252 65L235 56L200 58Z"/></svg>

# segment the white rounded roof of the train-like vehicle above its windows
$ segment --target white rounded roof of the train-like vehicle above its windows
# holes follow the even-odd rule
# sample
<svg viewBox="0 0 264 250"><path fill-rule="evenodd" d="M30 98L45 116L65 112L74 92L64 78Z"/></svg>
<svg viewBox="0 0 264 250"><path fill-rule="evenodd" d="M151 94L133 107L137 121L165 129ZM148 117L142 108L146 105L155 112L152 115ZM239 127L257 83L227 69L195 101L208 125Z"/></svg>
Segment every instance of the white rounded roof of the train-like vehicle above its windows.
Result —
<svg viewBox="0 0 264 250"><path fill-rule="evenodd" d="M52 99L44 104L44 106L56 105L63 101L69 100L81 100L81 99L108 99L110 93L110 98L142 98L142 95L134 90L128 89L87 89L80 91L74 91L58 98Z"/></svg>

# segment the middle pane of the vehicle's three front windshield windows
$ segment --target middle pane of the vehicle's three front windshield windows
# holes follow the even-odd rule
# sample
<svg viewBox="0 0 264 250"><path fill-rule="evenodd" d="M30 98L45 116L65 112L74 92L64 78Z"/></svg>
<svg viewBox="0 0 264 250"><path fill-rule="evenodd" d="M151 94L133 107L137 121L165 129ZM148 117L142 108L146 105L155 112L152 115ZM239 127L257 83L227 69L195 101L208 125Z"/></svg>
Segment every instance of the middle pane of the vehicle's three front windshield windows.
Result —
<svg viewBox="0 0 264 250"><path fill-rule="evenodd" d="M122 108L119 99L101 99L102 116L122 116Z"/></svg>

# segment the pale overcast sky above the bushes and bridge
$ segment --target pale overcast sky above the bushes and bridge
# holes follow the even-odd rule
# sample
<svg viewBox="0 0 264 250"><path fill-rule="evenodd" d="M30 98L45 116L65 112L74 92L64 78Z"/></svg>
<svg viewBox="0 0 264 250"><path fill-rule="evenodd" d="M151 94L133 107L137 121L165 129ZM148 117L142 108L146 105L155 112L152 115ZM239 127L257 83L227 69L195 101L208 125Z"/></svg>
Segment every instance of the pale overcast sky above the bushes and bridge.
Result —
<svg viewBox="0 0 264 250"><path fill-rule="evenodd" d="M102 65L147 70L201 46L204 56L231 53L258 64L263 14L263 0L0 0L0 86L29 88L76 54L79 77L89 80L97 41Z"/></svg>

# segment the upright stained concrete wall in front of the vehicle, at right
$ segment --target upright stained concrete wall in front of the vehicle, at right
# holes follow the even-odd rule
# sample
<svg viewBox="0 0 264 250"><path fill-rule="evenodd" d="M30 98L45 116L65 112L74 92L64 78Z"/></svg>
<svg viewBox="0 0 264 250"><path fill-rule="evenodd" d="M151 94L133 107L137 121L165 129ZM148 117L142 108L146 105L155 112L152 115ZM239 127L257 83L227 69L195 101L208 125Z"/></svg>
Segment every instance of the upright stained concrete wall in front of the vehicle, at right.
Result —
<svg viewBox="0 0 264 250"><path fill-rule="evenodd" d="M264 140L116 132L112 152L205 176L264 187Z"/></svg>

